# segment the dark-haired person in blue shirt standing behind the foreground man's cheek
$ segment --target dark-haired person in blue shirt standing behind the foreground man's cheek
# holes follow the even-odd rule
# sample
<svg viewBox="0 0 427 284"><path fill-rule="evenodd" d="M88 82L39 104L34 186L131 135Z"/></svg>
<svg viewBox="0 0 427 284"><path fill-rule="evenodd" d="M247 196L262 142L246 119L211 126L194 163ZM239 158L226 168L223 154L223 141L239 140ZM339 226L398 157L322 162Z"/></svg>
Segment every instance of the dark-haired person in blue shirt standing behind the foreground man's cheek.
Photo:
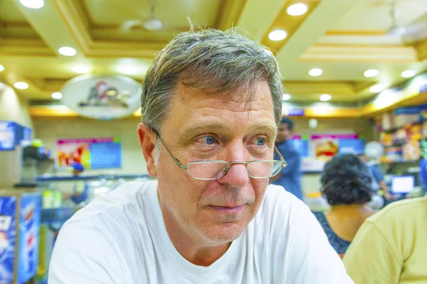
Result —
<svg viewBox="0 0 427 284"><path fill-rule="evenodd" d="M291 139L294 123L288 117L284 117L280 122L276 147L285 158L288 166L283 168L278 175L271 178L271 183L285 187L286 191L300 200L304 200L301 190L301 155ZM275 156L275 159L278 159L278 157Z"/></svg>

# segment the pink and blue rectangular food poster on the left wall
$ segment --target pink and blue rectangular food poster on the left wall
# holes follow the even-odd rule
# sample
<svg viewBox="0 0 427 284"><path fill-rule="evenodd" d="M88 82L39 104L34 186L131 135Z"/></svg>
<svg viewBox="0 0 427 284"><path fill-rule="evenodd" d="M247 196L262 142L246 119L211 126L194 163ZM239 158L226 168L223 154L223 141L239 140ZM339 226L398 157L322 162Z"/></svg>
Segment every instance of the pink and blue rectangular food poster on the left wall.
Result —
<svg viewBox="0 0 427 284"><path fill-rule="evenodd" d="M56 141L56 165L68 168L81 163L85 169L122 168L120 138L70 138Z"/></svg>

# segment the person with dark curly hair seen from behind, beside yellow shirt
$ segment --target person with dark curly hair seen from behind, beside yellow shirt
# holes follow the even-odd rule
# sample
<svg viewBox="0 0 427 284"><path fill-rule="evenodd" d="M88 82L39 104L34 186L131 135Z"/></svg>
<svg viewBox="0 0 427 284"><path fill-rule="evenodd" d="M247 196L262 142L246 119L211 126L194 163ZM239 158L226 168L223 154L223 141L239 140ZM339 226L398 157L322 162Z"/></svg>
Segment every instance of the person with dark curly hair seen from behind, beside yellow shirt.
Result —
<svg viewBox="0 0 427 284"><path fill-rule="evenodd" d="M336 155L326 163L320 182L331 207L325 213L313 213L334 250L344 256L364 220L376 212L368 205L371 175L357 155Z"/></svg>

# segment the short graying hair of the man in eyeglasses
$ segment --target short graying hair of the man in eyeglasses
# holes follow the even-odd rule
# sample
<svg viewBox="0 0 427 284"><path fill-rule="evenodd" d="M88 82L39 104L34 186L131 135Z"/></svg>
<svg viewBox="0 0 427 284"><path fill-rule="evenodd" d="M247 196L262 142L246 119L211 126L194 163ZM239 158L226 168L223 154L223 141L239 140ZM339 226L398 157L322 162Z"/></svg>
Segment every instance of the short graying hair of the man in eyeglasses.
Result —
<svg viewBox="0 0 427 284"><path fill-rule="evenodd" d="M248 92L250 105L254 86L260 81L270 87L275 122L280 124L282 76L270 50L236 28L218 31L191 26L190 31L179 33L160 50L149 67L142 84L142 123L161 131L179 83L207 94L238 96Z"/></svg>

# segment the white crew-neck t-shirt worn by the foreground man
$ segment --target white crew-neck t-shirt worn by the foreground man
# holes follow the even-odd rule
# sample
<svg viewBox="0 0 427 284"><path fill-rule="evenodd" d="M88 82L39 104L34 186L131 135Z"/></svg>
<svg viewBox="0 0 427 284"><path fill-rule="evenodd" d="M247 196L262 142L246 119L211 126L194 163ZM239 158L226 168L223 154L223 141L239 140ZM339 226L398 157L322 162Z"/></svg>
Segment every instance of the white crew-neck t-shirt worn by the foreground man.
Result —
<svg viewBox="0 0 427 284"><path fill-rule="evenodd" d="M342 261L310 209L269 185L243 234L211 266L176 251L157 181L130 182L97 198L60 230L49 283L347 284Z"/></svg>

